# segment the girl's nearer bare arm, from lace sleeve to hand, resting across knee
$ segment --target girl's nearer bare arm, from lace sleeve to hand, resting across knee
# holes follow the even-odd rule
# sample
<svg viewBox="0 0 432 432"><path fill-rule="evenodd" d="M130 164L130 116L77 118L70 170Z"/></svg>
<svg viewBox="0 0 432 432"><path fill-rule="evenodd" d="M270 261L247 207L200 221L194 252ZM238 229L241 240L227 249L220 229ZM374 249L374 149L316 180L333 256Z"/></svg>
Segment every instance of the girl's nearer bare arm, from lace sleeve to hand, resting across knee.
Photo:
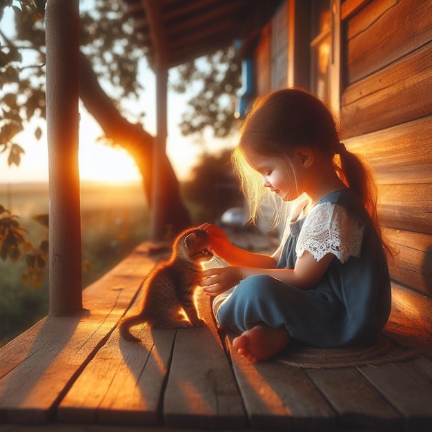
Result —
<svg viewBox="0 0 432 432"><path fill-rule="evenodd" d="M333 256L332 253L328 253L320 261L317 261L311 253L304 251L302 256L297 259L293 269L248 266L210 268L204 271L204 279L200 285L204 287L204 291L208 295L213 296L232 288L248 276L269 275L286 284L307 290L314 288L320 282L331 264Z"/></svg>

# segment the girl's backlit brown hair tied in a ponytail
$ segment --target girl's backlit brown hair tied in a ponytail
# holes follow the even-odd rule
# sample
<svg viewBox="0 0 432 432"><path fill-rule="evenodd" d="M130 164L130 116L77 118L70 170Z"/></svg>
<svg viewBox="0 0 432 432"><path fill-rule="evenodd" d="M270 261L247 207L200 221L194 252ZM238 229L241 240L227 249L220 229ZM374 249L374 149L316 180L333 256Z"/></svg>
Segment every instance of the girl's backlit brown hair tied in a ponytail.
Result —
<svg viewBox="0 0 432 432"><path fill-rule="evenodd" d="M287 173L295 181L293 155L297 148L306 146L328 155L340 179L360 196L383 240L377 220L377 188L370 168L340 143L335 119L322 101L297 88L284 88L255 99L242 125L239 144L233 151L233 166L248 199L251 219L256 219L262 204L276 208L277 202L275 194L262 186L259 173L248 166L244 150L282 157ZM280 204L282 200L277 201Z"/></svg>

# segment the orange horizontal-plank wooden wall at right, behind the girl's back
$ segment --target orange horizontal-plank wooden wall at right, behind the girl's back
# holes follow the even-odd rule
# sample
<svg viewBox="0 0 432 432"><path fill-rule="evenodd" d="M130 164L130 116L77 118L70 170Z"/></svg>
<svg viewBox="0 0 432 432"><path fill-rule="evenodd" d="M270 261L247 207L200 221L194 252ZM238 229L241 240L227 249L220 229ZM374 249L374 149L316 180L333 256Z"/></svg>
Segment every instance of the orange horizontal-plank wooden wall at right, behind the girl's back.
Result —
<svg viewBox="0 0 432 432"><path fill-rule="evenodd" d="M342 3L345 143L377 174L391 277L432 297L432 1L353 3Z"/></svg>

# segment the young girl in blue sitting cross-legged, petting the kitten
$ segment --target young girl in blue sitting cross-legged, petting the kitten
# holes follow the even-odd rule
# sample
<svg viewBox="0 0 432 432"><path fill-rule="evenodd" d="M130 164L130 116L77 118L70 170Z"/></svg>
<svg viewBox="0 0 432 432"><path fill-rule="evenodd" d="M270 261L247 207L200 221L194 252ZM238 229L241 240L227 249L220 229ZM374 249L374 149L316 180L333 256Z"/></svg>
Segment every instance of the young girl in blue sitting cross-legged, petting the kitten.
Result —
<svg viewBox="0 0 432 432"><path fill-rule="evenodd" d="M201 285L217 296L219 325L241 333L233 346L259 362L291 339L323 347L372 340L391 308L375 186L340 143L331 112L293 88L257 99L233 163L252 219L266 198L273 208L283 204L279 215L297 206L271 256L234 246L213 224L202 226L230 264L204 271Z"/></svg>

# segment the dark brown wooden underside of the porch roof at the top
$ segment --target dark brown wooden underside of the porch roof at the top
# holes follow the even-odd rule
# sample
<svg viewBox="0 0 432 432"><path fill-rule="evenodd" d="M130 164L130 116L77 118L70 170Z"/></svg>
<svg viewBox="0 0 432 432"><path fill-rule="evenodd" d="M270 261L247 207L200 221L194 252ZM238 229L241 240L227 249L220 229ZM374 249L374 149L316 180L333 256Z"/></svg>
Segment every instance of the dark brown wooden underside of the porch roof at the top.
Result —
<svg viewBox="0 0 432 432"><path fill-rule="evenodd" d="M150 66L178 66L264 26L280 0L124 0Z"/></svg>

